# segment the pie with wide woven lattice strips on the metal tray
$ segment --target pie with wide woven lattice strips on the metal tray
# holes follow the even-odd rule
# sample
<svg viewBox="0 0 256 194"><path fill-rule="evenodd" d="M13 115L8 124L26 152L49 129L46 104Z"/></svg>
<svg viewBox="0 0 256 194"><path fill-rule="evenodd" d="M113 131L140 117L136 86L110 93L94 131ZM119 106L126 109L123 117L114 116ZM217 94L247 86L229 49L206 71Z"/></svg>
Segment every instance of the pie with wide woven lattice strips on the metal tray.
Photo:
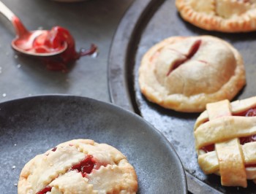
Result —
<svg viewBox="0 0 256 194"><path fill-rule="evenodd" d="M256 97L207 104L195 123L200 168L224 186L256 183Z"/></svg>

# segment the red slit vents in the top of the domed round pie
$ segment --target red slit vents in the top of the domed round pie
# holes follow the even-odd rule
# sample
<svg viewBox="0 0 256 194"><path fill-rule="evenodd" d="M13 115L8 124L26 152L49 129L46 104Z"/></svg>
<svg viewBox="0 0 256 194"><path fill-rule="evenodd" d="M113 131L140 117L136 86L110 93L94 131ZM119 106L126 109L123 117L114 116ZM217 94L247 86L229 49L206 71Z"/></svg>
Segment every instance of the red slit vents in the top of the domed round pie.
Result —
<svg viewBox="0 0 256 194"><path fill-rule="evenodd" d="M197 50L199 50L199 47L202 43L202 40L198 39L197 41L194 42L194 44L192 44L191 49L189 50L189 53L187 55L184 55L183 58L178 58L174 63L173 66L169 69L169 71L167 72L167 76L174 70L177 69L178 66L181 66L181 64L185 63L186 61L188 61L190 58L192 58L195 53L197 53ZM176 50L176 52L178 52L178 50ZM178 52L179 53L179 52ZM205 61L203 61L205 62Z"/></svg>

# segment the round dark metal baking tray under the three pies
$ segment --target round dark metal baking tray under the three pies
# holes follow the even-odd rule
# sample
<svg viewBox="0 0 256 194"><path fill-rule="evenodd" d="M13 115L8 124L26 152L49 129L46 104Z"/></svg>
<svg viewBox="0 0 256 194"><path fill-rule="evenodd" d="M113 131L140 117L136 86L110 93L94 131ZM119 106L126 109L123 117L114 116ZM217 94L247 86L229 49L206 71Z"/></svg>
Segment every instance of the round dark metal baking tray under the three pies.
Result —
<svg viewBox="0 0 256 194"><path fill-rule="evenodd" d="M110 98L113 103L136 112L161 131L173 144L187 173L192 193L255 193L249 181L246 189L222 187L217 175L206 176L197 164L193 126L199 114L163 109L143 97L138 86L138 67L146 51L169 36L212 35L225 39L240 51L246 69L246 87L236 98L256 95L256 33L223 34L205 31L182 20L174 0L137 0L129 8L114 36L108 63Z"/></svg>

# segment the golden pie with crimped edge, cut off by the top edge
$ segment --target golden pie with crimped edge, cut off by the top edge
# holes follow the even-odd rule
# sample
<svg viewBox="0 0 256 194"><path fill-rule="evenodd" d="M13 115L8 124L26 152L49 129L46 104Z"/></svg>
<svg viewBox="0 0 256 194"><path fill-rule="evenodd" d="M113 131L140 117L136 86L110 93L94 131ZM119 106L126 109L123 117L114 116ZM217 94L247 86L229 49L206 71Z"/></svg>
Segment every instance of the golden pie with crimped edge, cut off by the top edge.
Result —
<svg viewBox="0 0 256 194"><path fill-rule="evenodd" d="M184 20L209 31L256 30L255 0L176 0Z"/></svg>

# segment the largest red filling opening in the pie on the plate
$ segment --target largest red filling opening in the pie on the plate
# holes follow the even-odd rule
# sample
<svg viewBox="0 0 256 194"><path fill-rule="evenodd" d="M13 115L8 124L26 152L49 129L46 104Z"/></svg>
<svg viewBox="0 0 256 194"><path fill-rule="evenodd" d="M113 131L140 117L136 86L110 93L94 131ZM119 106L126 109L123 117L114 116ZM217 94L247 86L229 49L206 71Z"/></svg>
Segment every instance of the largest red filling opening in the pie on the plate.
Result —
<svg viewBox="0 0 256 194"><path fill-rule="evenodd" d="M86 174L90 174L92 169L94 169L94 166L96 166L96 161L94 160L92 155L87 155L86 158L80 163L74 165L71 167L71 170L77 170L81 172L81 174L86 176Z"/></svg>

